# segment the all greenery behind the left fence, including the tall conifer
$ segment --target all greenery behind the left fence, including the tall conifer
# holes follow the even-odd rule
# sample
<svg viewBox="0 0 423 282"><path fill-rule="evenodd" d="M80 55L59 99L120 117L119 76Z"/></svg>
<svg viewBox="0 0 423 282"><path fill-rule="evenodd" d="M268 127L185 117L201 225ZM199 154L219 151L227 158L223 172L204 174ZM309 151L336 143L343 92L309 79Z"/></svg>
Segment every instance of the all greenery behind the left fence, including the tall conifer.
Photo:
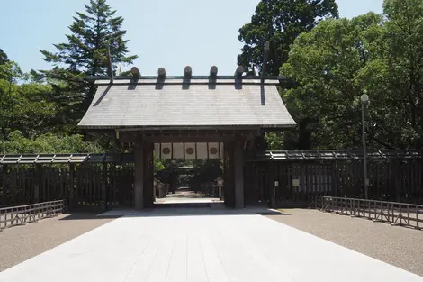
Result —
<svg viewBox="0 0 423 282"><path fill-rule="evenodd" d="M41 50L44 59L52 64L49 70L23 74L0 50L0 141L4 140L7 152L111 149L111 138L85 134L81 139L76 124L95 92L94 84L84 78L106 74L107 47L114 63L131 63L137 58L126 55L123 18L115 13L105 0L85 5L85 13L76 13L69 27L67 42L54 44L53 52ZM86 141L93 135L93 142Z"/></svg>

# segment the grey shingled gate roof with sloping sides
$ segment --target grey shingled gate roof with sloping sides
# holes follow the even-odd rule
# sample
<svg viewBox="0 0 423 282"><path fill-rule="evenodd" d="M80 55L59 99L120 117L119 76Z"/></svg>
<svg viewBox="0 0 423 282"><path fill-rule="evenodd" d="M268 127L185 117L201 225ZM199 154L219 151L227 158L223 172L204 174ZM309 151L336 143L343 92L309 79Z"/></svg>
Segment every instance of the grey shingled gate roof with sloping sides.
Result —
<svg viewBox="0 0 423 282"><path fill-rule="evenodd" d="M239 78L239 77L238 77ZM97 80L93 102L78 124L85 129L283 129L296 123L277 79L257 77L139 77Z"/></svg>

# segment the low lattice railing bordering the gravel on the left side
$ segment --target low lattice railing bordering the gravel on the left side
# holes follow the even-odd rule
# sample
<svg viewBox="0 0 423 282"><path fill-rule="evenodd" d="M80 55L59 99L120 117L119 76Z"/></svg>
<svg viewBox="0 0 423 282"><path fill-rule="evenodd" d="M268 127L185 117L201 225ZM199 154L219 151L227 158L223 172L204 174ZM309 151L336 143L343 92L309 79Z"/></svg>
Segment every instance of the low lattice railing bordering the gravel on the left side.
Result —
<svg viewBox="0 0 423 282"><path fill-rule="evenodd" d="M64 210L64 200L0 208L0 231L3 231L4 228L35 223L43 218L54 217L62 214Z"/></svg>

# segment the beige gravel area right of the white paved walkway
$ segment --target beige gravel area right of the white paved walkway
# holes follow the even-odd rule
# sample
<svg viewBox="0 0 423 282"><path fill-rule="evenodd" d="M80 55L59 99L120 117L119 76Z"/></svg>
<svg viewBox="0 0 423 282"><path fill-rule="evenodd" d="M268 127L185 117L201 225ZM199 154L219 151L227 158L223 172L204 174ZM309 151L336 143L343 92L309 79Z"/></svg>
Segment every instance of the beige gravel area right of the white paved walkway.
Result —
<svg viewBox="0 0 423 282"><path fill-rule="evenodd" d="M267 217L423 276L423 231L308 209Z"/></svg>

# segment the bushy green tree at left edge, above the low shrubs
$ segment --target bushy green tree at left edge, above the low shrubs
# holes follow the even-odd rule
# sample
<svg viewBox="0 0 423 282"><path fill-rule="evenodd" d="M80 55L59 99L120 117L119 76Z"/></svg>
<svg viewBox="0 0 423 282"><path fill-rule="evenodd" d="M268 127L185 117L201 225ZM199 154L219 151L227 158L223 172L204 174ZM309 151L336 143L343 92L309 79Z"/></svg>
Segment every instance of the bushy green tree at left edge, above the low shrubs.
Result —
<svg viewBox="0 0 423 282"><path fill-rule="evenodd" d="M0 131L4 140L19 130L34 139L46 132L66 134L73 128L72 100L59 86L31 82L13 61L0 65Z"/></svg>

